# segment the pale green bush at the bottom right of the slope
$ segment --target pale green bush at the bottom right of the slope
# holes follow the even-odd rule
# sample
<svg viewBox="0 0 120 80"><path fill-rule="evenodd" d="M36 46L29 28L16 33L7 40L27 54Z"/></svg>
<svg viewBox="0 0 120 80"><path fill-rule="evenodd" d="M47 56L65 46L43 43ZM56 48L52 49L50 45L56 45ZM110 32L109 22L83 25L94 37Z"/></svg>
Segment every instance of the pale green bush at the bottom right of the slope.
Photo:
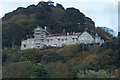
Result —
<svg viewBox="0 0 120 80"><path fill-rule="evenodd" d="M115 76L108 74L105 70L79 70L79 73L77 73L78 78L114 78Z"/></svg>

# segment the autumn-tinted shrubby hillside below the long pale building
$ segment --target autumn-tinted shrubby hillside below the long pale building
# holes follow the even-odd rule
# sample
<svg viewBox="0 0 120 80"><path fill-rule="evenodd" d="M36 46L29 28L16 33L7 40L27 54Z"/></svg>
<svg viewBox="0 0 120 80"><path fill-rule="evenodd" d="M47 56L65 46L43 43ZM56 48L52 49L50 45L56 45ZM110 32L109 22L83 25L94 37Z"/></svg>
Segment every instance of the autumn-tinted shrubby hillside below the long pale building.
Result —
<svg viewBox="0 0 120 80"><path fill-rule="evenodd" d="M3 49L3 78L120 78L119 40L101 46Z"/></svg>

